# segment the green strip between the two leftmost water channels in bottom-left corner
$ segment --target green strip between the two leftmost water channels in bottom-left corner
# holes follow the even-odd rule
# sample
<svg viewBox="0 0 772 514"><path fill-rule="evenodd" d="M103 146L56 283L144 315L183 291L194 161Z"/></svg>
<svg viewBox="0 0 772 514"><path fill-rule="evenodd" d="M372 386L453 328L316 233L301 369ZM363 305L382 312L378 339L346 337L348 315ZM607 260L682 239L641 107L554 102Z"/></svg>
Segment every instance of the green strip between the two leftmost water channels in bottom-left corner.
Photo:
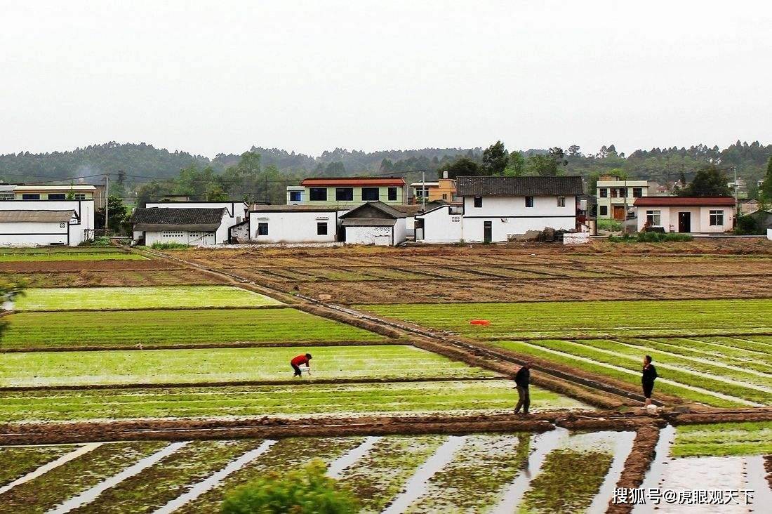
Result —
<svg viewBox="0 0 772 514"><path fill-rule="evenodd" d="M45 475L5 492L0 495L0 505L4 512L48 512L59 503L116 475L166 444L163 441L103 444Z"/></svg>

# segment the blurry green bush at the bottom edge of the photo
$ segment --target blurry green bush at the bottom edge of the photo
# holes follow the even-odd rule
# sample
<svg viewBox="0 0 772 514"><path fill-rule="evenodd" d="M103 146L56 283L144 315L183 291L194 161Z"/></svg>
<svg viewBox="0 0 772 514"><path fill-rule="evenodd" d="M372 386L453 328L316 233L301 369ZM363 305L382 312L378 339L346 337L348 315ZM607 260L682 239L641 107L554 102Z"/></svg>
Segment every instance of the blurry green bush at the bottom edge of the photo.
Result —
<svg viewBox="0 0 772 514"><path fill-rule="evenodd" d="M321 461L285 475L268 473L225 496L223 514L349 514L357 500L334 478L325 475Z"/></svg>

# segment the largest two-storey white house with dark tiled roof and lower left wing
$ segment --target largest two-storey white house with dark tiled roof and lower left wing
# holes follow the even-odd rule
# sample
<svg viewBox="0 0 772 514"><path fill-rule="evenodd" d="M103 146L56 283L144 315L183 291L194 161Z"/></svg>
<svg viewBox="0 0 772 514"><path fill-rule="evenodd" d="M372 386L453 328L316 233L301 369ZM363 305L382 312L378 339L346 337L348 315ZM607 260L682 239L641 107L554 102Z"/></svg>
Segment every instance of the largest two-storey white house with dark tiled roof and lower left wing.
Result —
<svg viewBox="0 0 772 514"><path fill-rule="evenodd" d="M529 230L577 230L579 176L457 177L462 206L440 206L415 216L415 240L496 243Z"/></svg>

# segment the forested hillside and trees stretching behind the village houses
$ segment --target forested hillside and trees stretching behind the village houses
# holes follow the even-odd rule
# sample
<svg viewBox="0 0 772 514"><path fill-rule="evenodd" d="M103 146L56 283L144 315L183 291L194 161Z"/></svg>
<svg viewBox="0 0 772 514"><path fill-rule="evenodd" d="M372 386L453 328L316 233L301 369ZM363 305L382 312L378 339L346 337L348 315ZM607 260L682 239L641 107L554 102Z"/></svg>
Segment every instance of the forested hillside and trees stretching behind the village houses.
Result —
<svg viewBox="0 0 772 514"><path fill-rule="evenodd" d="M259 156L259 157L258 157ZM0 155L0 179L5 182L47 182L110 173L114 191L127 199L154 199L185 194L196 199L233 197L250 201L281 202L284 186L309 175L406 175L408 181L427 179L443 171L461 174L582 175L587 190L603 173L672 184L692 178L706 163L731 175L736 168L748 183L750 197L762 179L772 145L736 141L728 148L693 145L689 148L652 148L630 155L615 145L599 151L567 149L507 151L497 141L489 148L422 148L416 150L358 151L335 148L313 157L279 148L252 147L242 155L219 154L209 159L153 145L110 142L44 154L23 152ZM119 174L118 172L123 173ZM408 173L409 172L409 173ZM90 178L100 180L100 177Z"/></svg>

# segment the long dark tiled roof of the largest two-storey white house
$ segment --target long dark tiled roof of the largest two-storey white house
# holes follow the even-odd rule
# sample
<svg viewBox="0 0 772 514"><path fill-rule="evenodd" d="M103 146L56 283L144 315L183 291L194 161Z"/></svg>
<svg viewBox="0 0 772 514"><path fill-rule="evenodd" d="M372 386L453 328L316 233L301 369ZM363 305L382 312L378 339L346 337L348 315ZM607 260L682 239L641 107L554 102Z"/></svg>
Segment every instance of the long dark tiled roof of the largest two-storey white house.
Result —
<svg viewBox="0 0 772 514"><path fill-rule="evenodd" d="M581 195L581 177L456 177L459 196Z"/></svg>

